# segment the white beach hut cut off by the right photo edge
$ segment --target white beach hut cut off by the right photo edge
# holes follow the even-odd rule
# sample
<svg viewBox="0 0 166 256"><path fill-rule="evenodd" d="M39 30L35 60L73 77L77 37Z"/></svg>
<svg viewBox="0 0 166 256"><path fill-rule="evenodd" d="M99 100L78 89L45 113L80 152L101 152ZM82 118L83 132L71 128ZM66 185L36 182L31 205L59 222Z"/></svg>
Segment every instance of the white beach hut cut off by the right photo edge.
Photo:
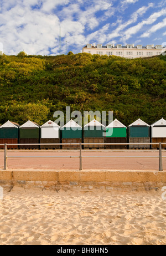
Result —
<svg viewBox="0 0 166 256"><path fill-rule="evenodd" d="M162 147L166 148L166 120L162 118L151 125L151 137L152 143L165 142L165 144L163 144ZM152 149L156 149L158 147L159 145L157 144L152 145Z"/></svg>

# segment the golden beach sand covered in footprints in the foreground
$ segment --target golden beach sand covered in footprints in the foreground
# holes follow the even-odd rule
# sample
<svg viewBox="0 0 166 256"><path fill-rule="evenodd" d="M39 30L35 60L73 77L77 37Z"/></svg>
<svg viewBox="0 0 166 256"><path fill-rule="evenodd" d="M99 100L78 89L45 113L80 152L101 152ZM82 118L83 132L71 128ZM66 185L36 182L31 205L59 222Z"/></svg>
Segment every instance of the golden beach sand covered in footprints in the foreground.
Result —
<svg viewBox="0 0 166 256"><path fill-rule="evenodd" d="M163 245L162 191L46 191L14 186L0 200L1 245Z"/></svg>

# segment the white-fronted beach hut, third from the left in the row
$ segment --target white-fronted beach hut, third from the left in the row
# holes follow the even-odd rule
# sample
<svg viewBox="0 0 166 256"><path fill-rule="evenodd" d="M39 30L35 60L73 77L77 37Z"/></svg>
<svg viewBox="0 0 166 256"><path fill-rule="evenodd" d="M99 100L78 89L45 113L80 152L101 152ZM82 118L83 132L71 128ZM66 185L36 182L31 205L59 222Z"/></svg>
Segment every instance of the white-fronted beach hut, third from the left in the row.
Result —
<svg viewBox="0 0 166 256"><path fill-rule="evenodd" d="M41 144L60 144L60 126L49 120L40 126ZM40 145L40 149L59 149L60 145Z"/></svg>

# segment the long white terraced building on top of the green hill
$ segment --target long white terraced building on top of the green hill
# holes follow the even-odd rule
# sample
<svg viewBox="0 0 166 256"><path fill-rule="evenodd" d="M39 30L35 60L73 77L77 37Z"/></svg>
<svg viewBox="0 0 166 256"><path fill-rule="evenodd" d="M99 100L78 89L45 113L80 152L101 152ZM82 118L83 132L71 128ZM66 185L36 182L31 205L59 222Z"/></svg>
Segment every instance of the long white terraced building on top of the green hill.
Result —
<svg viewBox="0 0 166 256"><path fill-rule="evenodd" d="M122 46L122 44L107 44L102 46L102 44L97 44L93 46L92 44L87 44L82 48L82 53L91 53L99 55L116 55L119 57L124 57L128 59L134 58L145 58L160 55L163 52L164 47L162 45L148 44L146 47L142 44L134 46L134 44L127 44Z"/></svg>

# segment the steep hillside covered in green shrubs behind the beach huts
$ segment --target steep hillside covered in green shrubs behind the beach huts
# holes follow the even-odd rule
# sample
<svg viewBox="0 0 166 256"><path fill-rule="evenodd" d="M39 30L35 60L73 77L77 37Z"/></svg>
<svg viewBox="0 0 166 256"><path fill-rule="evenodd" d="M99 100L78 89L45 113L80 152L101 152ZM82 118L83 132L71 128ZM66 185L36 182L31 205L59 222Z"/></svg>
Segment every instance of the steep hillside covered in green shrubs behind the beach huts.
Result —
<svg viewBox="0 0 166 256"><path fill-rule="evenodd" d="M113 110L128 126L166 119L166 57L123 59L87 53L0 57L0 124L42 125L56 110Z"/></svg>

